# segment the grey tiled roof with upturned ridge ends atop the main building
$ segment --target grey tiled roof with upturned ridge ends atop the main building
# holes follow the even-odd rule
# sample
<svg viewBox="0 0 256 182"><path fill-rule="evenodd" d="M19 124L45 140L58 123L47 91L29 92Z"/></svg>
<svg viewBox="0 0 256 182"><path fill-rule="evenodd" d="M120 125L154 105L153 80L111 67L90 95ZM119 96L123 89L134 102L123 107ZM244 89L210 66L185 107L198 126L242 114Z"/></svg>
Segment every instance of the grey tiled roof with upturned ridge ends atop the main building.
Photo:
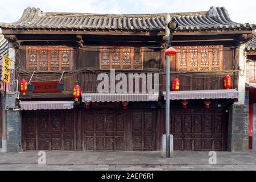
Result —
<svg viewBox="0 0 256 182"><path fill-rule="evenodd" d="M0 23L1 28L51 30L121 30L164 31L167 14L82 14L44 13L27 7L14 23ZM236 23L229 18L225 7L211 7L209 11L173 13L179 23L177 31L242 29L251 30L255 24Z"/></svg>

